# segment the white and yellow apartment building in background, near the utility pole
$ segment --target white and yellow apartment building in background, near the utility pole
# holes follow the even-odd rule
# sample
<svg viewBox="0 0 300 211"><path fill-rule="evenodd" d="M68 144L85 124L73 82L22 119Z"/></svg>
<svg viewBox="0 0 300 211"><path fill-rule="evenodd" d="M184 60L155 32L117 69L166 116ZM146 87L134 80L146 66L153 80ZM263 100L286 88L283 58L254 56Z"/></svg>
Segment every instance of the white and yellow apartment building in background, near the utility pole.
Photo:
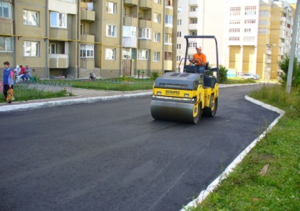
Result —
<svg viewBox="0 0 300 211"><path fill-rule="evenodd" d="M227 66L262 79L279 79L278 61L291 50L293 8L275 0L230 0L228 7Z"/></svg>

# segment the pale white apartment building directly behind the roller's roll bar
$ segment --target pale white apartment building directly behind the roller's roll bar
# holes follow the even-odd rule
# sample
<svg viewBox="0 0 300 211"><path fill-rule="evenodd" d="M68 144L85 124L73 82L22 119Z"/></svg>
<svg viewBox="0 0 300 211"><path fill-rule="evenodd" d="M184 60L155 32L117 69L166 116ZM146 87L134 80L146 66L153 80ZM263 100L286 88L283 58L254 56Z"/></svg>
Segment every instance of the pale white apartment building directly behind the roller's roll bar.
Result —
<svg viewBox="0 0 300 211"><path fill-rule="evenodd" d="M216 5L218 5L216 7ZM185 35L214 35L217 37L219 52L224 52L225 1L181 0L178 1L176 63L177 71L183 71L185 57ZM196 53L195 47L202 47L211 66L217 64L214 40L191 39L188 43L188 58ZM180 64L180 61L181 64ZM225 63L224 54L219 54L219 64Z"/></svg>

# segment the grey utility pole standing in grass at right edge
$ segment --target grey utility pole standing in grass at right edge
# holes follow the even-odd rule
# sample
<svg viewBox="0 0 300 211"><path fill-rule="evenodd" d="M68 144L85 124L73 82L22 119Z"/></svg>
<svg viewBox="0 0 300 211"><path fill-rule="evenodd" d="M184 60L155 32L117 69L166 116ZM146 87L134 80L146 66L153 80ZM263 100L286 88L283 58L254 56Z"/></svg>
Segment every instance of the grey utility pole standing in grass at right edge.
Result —
<svg viewBox="0 0 300 211"><path fill-rule="evenodd" d="M296 15L295 15L295 19L294 19L292 49L291 49L291 54L289 56L289 70L287 72L287 93L291 93L291 89L292 89L292 78L293 78L295 48L296 48L296 37L297 37L298 22L299 22L299 10L300 10L300 0L297 1Z"/></svg>

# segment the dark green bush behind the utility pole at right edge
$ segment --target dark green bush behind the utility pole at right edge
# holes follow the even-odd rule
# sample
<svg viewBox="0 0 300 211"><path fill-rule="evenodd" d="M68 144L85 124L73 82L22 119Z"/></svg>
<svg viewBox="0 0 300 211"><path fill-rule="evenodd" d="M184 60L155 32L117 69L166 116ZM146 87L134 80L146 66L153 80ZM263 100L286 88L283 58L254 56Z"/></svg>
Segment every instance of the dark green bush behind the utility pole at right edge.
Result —
<svg viewBox="0 0 300 211"><path fill-rule="evenodd" d="M284 54L283 59L278 61L279 68L284 72L280 78L283 85L287 84L287 73L289 71L289 54ZM300 63L294 59L292 85L298 87L300 85Z"/></svg>

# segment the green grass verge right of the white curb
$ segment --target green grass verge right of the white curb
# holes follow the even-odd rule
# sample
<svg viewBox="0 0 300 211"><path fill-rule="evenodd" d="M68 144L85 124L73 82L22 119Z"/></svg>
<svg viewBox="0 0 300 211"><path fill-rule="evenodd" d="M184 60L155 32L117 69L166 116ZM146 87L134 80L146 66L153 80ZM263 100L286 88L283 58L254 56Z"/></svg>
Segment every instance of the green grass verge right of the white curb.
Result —
<svg viewBox="0 0 300 211"><path fill-rule="evenodd" d="M300 210L300 90L287 95L282 85L265 85L249 96L286 114L206 200L188 210Z"/></svg>

